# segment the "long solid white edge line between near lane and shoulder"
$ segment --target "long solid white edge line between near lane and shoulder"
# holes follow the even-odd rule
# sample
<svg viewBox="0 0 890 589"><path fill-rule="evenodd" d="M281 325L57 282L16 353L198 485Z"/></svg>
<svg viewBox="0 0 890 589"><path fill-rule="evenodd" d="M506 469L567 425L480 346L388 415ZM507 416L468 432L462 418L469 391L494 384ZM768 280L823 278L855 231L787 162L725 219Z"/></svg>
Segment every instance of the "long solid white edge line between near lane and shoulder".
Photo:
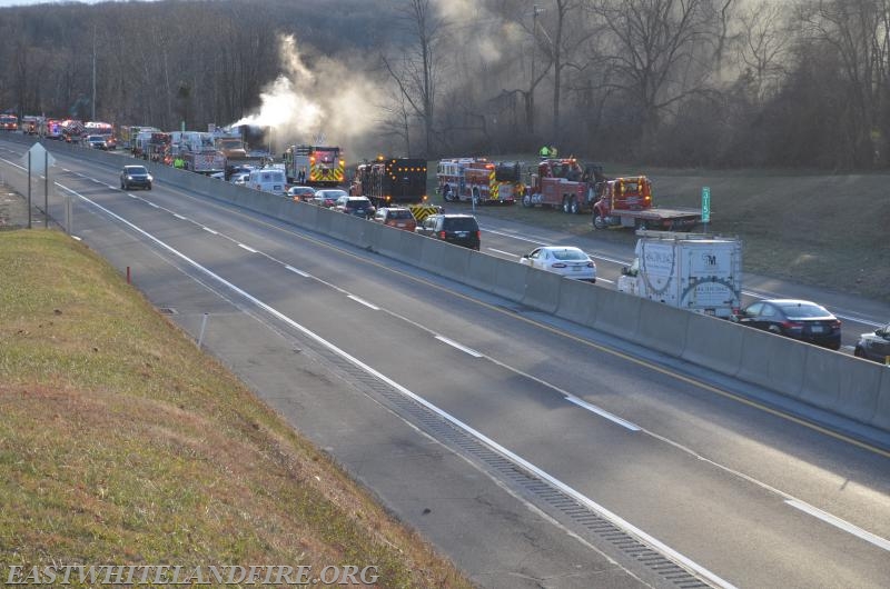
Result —
<svg viewBox="0 0 890 589"><path fill-rule="evenodd" d="M181 251L179 251L177 249L174 249L171 246L168 246L167 243L165 243L160 239L156 238L155 236L150 234L146 230L137 227L132 222L128 221L127 219L123 219L119 214L110 211L109 209L106 209L105 207L102 207L98 202L95 202L95 201L88 199L83 194L80 194L80 193L71 190L70 188L63 187L62 184L58 184L58 186L62 187L65 190L68 190L71 193L76 194L81 200L85 200L85 201L89 202L90 204L92 204L97 209L103 211L106 214L108 214L108 216L117 219L118 221L122 222L123 224L132 228L134 231L137 231L140 234L145 236L150 241L157 243L160 248L169 251L171 254L176 256L177 258L180 258L181 260L184 260L188 264L192 266L195 269L204 272L205 274L207 274L211 279L218 281L219 283L225 284L227 288L231 289L234 292L236 292L236 293L240 294L241 297L244 297L245 299L249 300L250 302L256 305L258 308L265 310L266 312L268 312L269 315L271 315L276 319L278 319L280 321L284 321L285 323L287 323L291 328L294 328L297 331L304 333L307 338L318 342L320 346L324 346L325 348L327 348L332 352L336 353L340 358L344 358L345 360L352 362L354 366L356 366L357 368L360 368L362 370L364 370L368 375L379 379L382 382L385 382L386 385L389 385L390 387L393 387L394 389L399 391L405 397L408 397L409 399L414 400L415 402L426 407L427 409L429 409L434 413L438 415L443 419L447 420L448 422L451 422L455 427L466 431L469 436L476 438L477 440L479 440L484 445L488 446L492 450L498 452L500 455L504 456L508 460L512 460L512 461L516 462L517 465L520 465L521 467L525 468L526 470L528 470L530 472L534 473L535 476L546 480L547 482L550 482L554 487L558 488L564 493L566 493L570 497L572 497L573 499L575 499L577 502L587 506L589 509L597 511L597 513L601 517L610 520L612 523L614 523L619 528L622 528L623 530L627 531L629 533L636 536L644 543L649 543L649 546L651 546L652 548L661 551L663 555L668 556L669 558L672 558L674 561L676 561L676 562L681 563L682 566L686 567L689 570L692 570L692 571L696 572L698 575L701 575L702 577L704 577L705 579L710 580L711 582L716 583L719 587L722 587L722 588L725 588L725 589L735 589L735 586L733 586L732 583L726 582L725 580L723 580L722 578L718 577L716 575L714 575L710 570L705 569L704 567L702 567L702 566L698 565L696 562L690 560L689 558L684 557L683 555L681 555L680 552L678 552L673 548L670 548L668 545L661 542L660 540L656 540L654 537L652 537L649 533L644 532L643 530L636 528L631 522L625 521L623 518L619 517L616 513L613 513L612 511L607 510L603 506L599 505L594 500L592 500L589 497L586 497L586 496L582 495L581 492L576 491L575 489L573 489L570 486L567 486L563 481L561 481L561 480L552 477L547 472L541 470L538 467L536 467L535 465L528 462L527 460L525 460L524 458L520 457L518 455L515 455L515 453L511 452L510 450L507 450L506 448L504 448L500 443L495 442L494 440L492 440L487 436L483 435L481 431L476 431L475 429L473 429L468 425L464 423L463 421L461 421L456 417L452 416L447 411L445 411L443 409L439 409L438 407L436 407L435 405L431 403L429 401L427 401L423 397L421 397L418 395L415 395L414 392L412 392L407 388L403 387L402 385L399 385L395 380L390 379L389 377L387 377L383 372L379 372L378 370L376 370L376 369L372 368L370 366L366 365L365 362L363 362L358 358L355 358L354 356L349 355L345 350L342 350L340 348L338 348L334 343L332 343L328 340L324 339L322 336L315 333L314 331L312 331L308 328L301 326L300 323L297 323L296 321L294 321L293 319L290 319L289 317L284 315L283 312L280 312L277 309L266 305L265 302L263 302L261 300L257 299L256 297L254 297L249 292L247 292L247 291L243 290L241 288L233 284L231 282L225 280L222 277L220 277L219 274L212 272L208 268L205 268L204 266L199 264L198 262L196 262L195 260L192 260L191 258L189 258L188 256L186 256Z"/></svg>

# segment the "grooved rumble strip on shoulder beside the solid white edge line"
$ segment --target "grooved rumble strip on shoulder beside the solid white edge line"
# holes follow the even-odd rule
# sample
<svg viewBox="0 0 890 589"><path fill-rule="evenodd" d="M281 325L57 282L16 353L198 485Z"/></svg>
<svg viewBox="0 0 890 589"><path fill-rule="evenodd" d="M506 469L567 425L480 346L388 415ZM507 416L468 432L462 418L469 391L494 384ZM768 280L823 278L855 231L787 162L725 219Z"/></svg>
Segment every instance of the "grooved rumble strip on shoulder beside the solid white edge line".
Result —
<svg viewBox="0 0 890 589"><path fill-rule="evenodd" d="M415 423L421 423L426 432L435 439L463 450L502 480L512 482L514 489L518 488L525 497L533 498L538 506L542 503L548 506L552 510L561 513L563 516L562 519L573 522L576 529L586 530L590 536L611 545L625 558L625 561L633 561L652 572L654 578L664 581L663 583L657 583L659 586L679 587L681 589L712 587L654 548L643 543L630 532L604 519L589 506L582 505L550 481L541 479L534 472L494 451L468 431L446 420L421 402L405 396L376 376L369 375L363 368L353 365L315 341L306 340L306 346L312 347L326 362L338 368L346 380L366 392L369 391L384 398L392 408L404 417L409 417Z"/></svg>

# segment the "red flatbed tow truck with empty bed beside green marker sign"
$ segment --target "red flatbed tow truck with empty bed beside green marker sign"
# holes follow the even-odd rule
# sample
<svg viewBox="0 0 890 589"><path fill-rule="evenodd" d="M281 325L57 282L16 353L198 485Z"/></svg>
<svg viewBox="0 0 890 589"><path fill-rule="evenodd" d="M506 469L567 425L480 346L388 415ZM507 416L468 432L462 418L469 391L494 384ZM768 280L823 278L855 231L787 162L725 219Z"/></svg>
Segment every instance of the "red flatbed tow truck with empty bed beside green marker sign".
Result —
<svg viewBox="0 0 890 589"><path fill-rule="evenodd" d="M662 209L652 206L652 182L645 176L603 181L593 204L594 229L633 227L689 231L702 220L699 209Z"/></svg>

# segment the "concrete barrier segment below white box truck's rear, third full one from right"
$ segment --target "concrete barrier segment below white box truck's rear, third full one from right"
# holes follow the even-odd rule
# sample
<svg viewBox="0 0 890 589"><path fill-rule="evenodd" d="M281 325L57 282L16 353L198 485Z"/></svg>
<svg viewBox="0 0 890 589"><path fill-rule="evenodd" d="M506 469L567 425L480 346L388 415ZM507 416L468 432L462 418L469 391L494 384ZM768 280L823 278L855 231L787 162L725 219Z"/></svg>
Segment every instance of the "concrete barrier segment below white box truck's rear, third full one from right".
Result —
<svg viewBox="0 0 890 589"><path fill-rule="evenodd" d="M725 319L689 315L681 357L723 375L735 375L742 358L742 336L748 328Z"/></svg>

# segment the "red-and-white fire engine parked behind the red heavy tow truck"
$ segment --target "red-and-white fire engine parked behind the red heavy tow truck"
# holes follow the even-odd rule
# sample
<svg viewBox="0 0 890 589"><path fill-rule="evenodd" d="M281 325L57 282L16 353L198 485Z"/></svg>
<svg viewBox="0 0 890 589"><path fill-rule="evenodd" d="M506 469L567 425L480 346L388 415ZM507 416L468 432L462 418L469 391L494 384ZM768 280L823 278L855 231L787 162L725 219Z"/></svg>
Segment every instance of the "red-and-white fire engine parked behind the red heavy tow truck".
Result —
<svg viewBox="0 0 890 589"><path fill-rule="evenodd" d="M446 202L513 204L524 194L518 162L493 162L485 158L439 160L436 169L438 192Z"/></svg>

